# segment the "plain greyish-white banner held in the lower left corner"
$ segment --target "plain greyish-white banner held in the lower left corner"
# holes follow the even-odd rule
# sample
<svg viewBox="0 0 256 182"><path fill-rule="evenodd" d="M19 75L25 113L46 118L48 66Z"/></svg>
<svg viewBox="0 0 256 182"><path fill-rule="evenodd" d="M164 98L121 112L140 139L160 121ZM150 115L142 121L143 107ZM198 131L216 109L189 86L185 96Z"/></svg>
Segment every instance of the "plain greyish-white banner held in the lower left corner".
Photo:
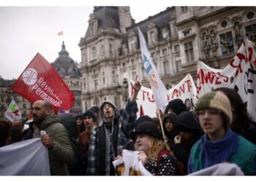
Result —
<svg viewBox="0 0 256 182"><path fill-rule="evenodd" d="M1 147L0 175L50 175L48 149L40 138Z"/></svg>

